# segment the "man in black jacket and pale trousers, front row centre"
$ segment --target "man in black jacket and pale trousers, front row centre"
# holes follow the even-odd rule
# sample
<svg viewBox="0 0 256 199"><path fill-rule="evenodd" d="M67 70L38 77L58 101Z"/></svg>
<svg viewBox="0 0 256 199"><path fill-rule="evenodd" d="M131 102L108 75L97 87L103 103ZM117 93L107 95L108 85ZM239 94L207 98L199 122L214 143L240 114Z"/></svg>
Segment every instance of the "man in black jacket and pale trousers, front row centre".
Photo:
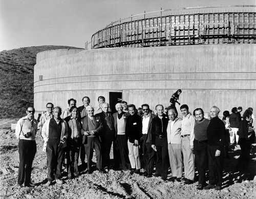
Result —
<svg viewBox="0 0 256 199"><path fill-rule="evenodd" d="M129 159L131 163L131 174L140 173L141 164L139 159L139 141L141 138L142 122L141 117L135 113L135 105L128 106L130 116L125 125L125 136L128 139Z"/></svg>

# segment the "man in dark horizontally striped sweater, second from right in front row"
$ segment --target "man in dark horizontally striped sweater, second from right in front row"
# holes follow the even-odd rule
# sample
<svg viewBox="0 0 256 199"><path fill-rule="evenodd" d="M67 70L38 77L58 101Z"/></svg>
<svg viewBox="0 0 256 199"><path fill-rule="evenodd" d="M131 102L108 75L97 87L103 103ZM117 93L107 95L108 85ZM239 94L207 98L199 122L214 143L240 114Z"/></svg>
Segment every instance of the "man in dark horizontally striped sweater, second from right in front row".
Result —
<svg viewBox="0 0 256 199"><path fill-rule="evenodd" d="M208 165L207 156L207 126L210 120L204 118L204 111L202 108L196 108L193 112L196 117L194 127L194 153L197 161L198 170L198 187L197 189L202 190L205 186L205 174Z"/></svg>

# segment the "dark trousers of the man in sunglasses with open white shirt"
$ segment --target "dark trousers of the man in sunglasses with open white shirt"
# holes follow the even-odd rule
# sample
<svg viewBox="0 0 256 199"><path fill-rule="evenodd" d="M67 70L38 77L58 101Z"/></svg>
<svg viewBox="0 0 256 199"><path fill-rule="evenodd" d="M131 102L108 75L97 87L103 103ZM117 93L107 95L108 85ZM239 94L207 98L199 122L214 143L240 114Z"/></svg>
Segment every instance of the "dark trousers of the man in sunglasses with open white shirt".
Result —
<svg viewBox="0 0 256 199"><path fill-rule="evenodd" d="M148 174L152 174L154 170L154 162L155 162L155 151L151 147L152 143L145 143L146 135L142 136L143 144L143 159L145 162L145 170Z"/></svg>

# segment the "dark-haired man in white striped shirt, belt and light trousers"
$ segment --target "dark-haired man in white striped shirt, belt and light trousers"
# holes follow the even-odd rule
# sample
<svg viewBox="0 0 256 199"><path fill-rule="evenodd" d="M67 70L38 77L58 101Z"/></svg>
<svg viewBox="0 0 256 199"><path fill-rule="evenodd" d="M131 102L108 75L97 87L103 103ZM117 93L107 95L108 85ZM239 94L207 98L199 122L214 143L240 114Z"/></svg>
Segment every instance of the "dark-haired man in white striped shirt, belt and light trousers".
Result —
<svg viewBox="0 0 256 199"><path fill-rule="evenodd" d="M185 181L185 184L192 184L195 179L195 157L193 153L195 118L188 111L186 104L181 105L180 110L182 114L181 143L185 175L181 180Z"/></svg>

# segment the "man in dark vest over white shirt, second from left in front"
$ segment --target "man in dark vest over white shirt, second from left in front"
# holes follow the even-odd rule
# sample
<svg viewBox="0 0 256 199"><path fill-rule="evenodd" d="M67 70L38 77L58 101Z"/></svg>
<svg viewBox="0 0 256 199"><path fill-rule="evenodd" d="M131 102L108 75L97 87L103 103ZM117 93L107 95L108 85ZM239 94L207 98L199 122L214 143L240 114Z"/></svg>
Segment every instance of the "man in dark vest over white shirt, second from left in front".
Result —
<svg viewBox="0 0 256 199"><path fill-rule="evenodd" d="M61 168L65 154L66 140L69 135L68 125L60 118L61 108L53 108L53 118L47 120L42 126L42 138L47 143L48 174L47 186L51 186L55 178L57 184L63 184L61 178Z"/></svg>

